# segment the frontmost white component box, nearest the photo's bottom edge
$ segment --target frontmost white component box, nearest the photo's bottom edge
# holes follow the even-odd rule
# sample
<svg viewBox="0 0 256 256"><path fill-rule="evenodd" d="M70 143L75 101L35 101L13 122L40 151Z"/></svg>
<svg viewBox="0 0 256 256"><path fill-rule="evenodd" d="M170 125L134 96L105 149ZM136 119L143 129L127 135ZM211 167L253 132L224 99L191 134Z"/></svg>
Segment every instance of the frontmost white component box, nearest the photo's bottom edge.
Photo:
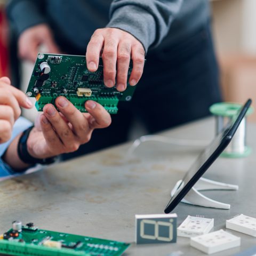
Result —
<svg viewBox="0 0 256 256"><path fill-rule="evenodd" d="M190 245L207 254L224 251L241 245L241 238L222 229L190 238Z"/></svg>

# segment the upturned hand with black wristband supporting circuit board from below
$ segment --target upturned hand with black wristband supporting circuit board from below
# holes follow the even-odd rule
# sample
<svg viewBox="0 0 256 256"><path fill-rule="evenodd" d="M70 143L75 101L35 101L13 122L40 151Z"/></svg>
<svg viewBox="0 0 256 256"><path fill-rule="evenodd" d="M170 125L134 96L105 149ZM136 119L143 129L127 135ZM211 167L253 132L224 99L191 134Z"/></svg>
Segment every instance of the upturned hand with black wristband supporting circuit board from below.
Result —
<svg viewBox="0 0 256 256"><path fill-rule="evenodd" d="M47 158L76 151L88 142L94 129L110 125L109 113L98 103L87 101L88 113L81 113L65 97L56 99L60 113L53 105L44 106L39 117L40 126L34 127L27 141L29 154L35 158Z"/></svg>

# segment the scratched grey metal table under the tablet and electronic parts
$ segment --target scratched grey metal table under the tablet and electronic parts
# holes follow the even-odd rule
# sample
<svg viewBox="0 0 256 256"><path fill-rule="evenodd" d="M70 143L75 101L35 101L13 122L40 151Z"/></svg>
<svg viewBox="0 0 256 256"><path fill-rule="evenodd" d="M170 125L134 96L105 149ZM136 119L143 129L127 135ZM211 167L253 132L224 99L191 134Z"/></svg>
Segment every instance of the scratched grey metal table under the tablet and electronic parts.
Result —
<svg viewBox="0 0 256 256"><path fill-rule="evenodd" d="M230 203L230 210L207 209L180 203L174 212L178 224L187 215L214 218L214 229L236 214L256 217L256 125L248 127L253 154L247 158L219 158L204 177L239 185L238 191L205 191L204 194ZM207 118L162 133L171 138L211 140L214 120ZM206 255L178 237L175 244L134 244L134 214L163 213L170 190L202 147L173 146L145 142L131 157L131 143L113 147L45 170L0 183L0 230L13 220L34 222L43 229L114 239L132 243L125 255ZM255 244L256 238L242 237L241 247L214 255L233 255Z"/></svg>

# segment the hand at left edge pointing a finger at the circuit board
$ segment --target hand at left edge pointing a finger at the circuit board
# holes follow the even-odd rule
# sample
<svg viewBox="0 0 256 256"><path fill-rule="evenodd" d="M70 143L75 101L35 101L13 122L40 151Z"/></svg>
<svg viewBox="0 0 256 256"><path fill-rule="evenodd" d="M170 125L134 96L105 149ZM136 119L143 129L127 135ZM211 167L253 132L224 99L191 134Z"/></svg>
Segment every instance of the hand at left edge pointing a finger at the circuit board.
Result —
<svg viewBox="0 0 256 256"><path fill-rule="evenodd" d="M11 86L10 79L0 78L0 143L11 138L14 122L21 114L21 107L31 108L26 95Z"/></svg>

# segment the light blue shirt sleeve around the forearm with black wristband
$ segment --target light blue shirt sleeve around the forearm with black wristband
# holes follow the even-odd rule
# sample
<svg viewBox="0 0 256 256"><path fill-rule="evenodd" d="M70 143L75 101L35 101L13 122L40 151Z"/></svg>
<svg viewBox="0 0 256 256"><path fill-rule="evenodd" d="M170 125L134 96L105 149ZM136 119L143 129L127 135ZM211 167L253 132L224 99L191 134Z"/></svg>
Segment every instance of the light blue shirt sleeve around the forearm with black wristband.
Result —
<svg viewBox="0 0 256 256"><path fill-rule="evenodd" d="M24 117L20 117L15 122L15 124L13 126L12 138L3 144L0 144L0 157L4 154L5 150L9 147L9 145L13 141L13 139L15 137L17 137L17 135L19 135L21 132L28 129L28 127L30 127L31 125L32 125L32 123L29 122ZM0 158L0 178L9 176L12 173L13 173L13 170L11 169L11 167L9 165L7 165L6 163L4 163L2 161L2 159Z"/></svg>

